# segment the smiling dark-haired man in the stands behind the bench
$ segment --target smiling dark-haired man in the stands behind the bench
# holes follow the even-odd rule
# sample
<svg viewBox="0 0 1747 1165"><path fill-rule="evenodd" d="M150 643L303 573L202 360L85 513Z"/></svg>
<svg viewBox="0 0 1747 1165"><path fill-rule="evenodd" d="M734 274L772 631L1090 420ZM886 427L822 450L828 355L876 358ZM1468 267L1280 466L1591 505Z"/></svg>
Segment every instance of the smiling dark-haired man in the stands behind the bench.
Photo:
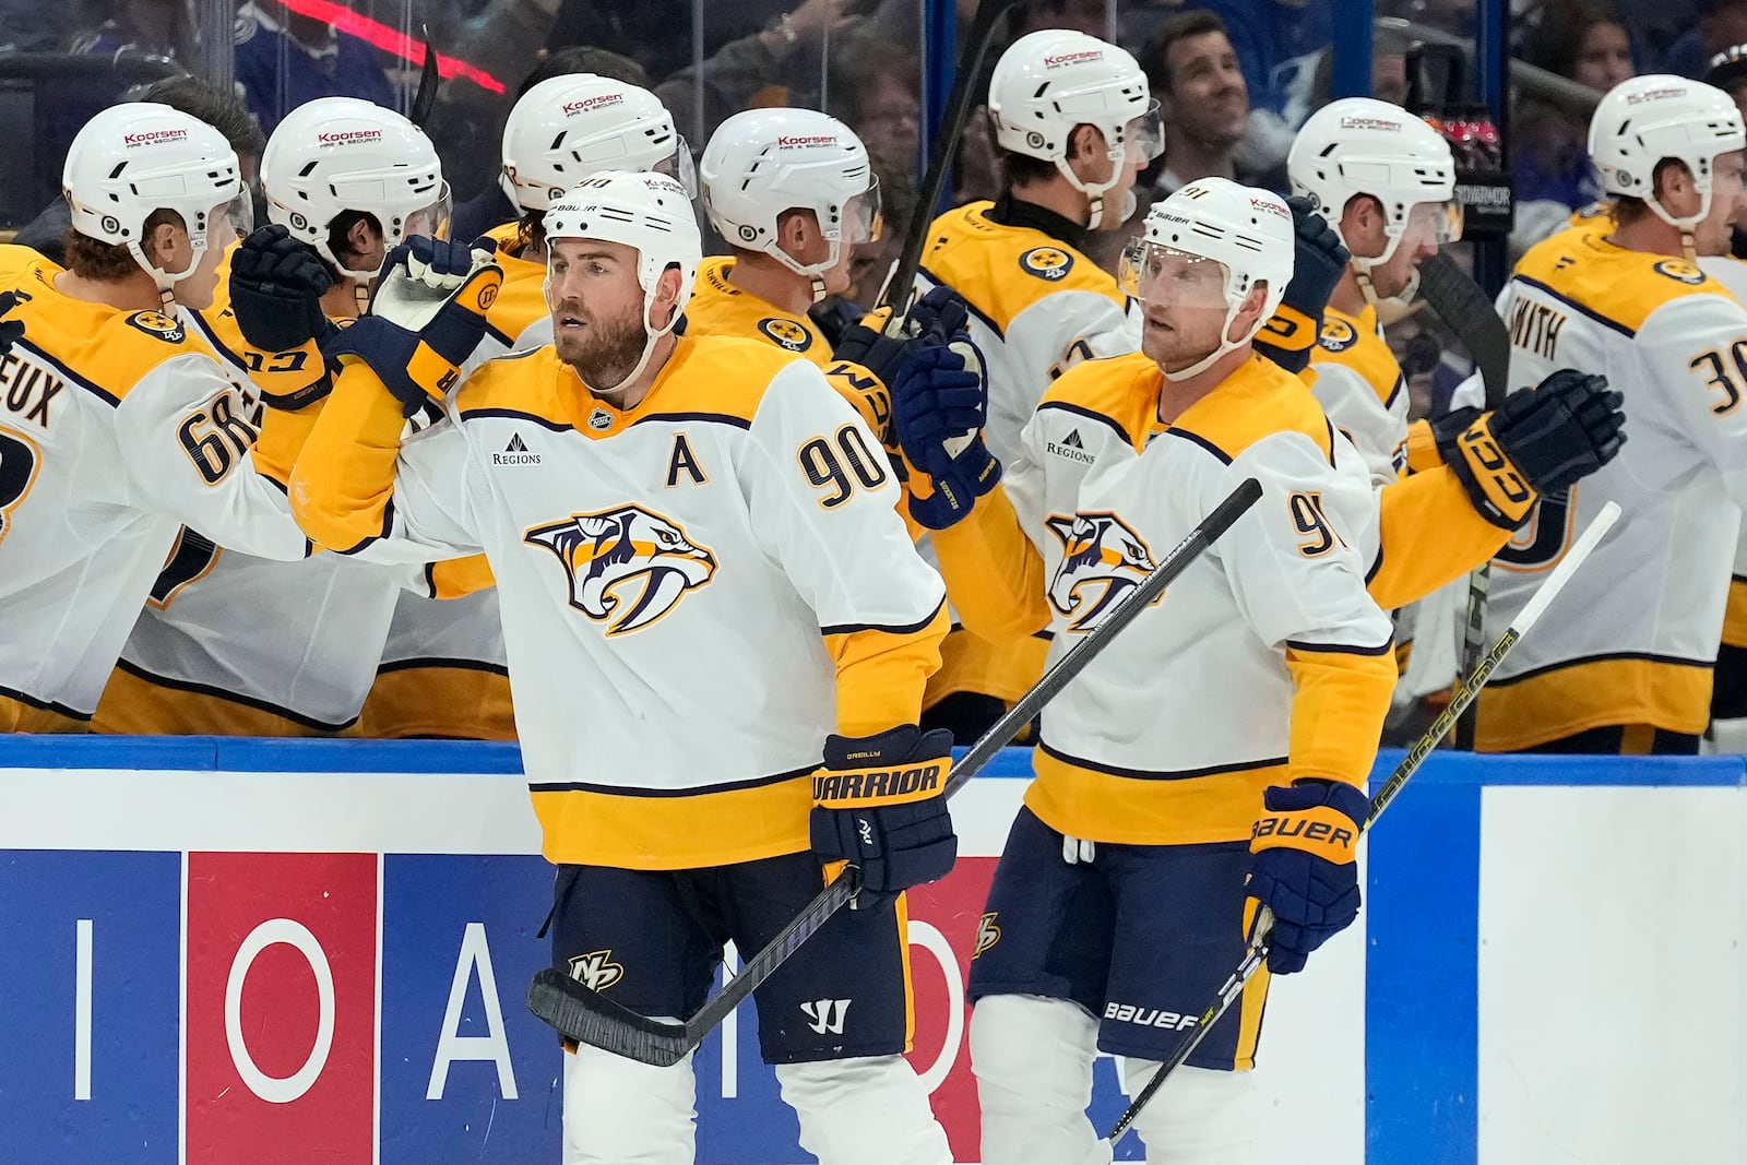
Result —
<svg viewBox="0 0 1747 1165"><path fill-rule="evenodd" d="M1141 49L1141 68L1165 121L1160 196L1197 178L1284 187L1291 133L1249 107L1249 84L1225 21L1207 10L1169 21ZM1251 138L1260 148L1240 150Z"/></svg>

